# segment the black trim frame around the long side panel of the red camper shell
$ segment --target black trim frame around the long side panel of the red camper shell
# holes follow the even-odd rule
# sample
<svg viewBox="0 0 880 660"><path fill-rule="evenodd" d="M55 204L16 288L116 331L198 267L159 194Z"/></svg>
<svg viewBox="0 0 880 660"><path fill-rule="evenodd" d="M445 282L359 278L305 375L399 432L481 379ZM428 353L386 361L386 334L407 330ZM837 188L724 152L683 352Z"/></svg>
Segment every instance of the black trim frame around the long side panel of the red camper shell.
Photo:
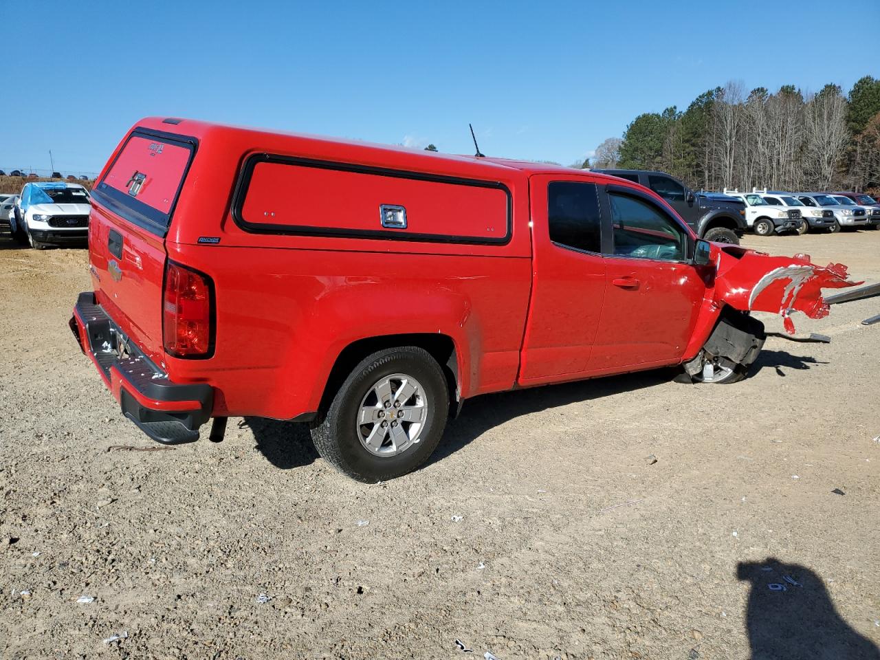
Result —
<svg viewBox="0 0 880 660"><path fill-rule="evenodd" d="M458 186L484 187L501 190L507 200L507 231L504 236L496 238L479 238L473 236L455 236L453 234L428 234L407 233L396 229L390 230L356 230L342 227L315 227L304 224L272 224L272 223L249 223L242 216L241 211L247 197L247 189L253 176L253 169L259 163L277 163L281 165L299 165L315 167L337 172L356 172L361 174L374 174L395 179L409 179L420 181L433 181L436 183L448 183ZM272 153L256 153L247 157L241 171L238 174L235 192L232 195L232 220L238 227L253 234L273 234L286 236L320 236L326 238L378 238L379 240L398 240L420 243L452 243L477 246L506 246L513 238L513 197L510 188L500 181L480 179L466 179L445 174L430 174L428 172L413 172L410 170L396 170L387 167L373 165L357 165L340 161L319 160L315 158L301 158L297 156L283 156Z"/></svg>

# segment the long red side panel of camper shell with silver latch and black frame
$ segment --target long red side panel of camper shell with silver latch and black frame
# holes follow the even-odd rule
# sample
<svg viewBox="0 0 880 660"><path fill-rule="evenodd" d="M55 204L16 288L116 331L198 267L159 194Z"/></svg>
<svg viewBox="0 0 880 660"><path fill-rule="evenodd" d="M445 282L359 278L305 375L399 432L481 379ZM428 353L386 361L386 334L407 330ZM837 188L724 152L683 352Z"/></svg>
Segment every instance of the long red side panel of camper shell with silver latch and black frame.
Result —
<svg viewBox="0 0 880 660"><path fill-rule="evenodd" d="M257 233L505 244L510 190L500 182L258 154L233 205Z"/></svg>

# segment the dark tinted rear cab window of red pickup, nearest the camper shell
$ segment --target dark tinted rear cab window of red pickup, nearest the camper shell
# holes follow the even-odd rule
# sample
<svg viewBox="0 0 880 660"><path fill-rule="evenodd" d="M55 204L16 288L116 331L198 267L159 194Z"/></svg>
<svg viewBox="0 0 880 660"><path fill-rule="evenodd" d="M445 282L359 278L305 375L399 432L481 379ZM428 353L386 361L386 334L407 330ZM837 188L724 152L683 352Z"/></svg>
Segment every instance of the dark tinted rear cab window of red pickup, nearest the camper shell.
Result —
<svg viewBox="0 0 880 660"><path fill-rule="evenodd" d="M601 251L601 216L594 183L553 181L547 185L550 240L561 246Z"/></svg>

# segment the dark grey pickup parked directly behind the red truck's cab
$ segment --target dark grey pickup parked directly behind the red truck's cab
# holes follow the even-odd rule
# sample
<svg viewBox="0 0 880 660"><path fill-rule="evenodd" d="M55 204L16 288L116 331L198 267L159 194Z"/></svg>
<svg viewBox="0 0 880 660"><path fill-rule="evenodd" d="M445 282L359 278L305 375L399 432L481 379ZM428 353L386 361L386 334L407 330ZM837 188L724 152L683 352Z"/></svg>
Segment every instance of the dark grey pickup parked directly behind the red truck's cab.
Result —
<svg viewBox="0 0 880 660"><path fill-rule="evenodd" d="M666 172L649 170L592 170L641 183L669 202L700 238L739 245L747 230L745 205L723 194L694 193Z"/></svg>

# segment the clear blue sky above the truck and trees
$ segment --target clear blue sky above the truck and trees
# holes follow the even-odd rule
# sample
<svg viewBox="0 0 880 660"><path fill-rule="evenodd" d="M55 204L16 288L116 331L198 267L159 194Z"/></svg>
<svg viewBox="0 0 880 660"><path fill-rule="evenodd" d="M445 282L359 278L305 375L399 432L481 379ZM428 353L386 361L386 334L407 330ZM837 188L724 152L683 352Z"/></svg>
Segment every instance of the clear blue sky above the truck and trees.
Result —
<svg viewBox="0 0 880 660"><path fill-rule="evenodd" d="M98 171L151 114L455 153L473 152L471 121L488 155L568 165L637 114L730 79L817 91L880 77L877 0L28 7L3 4L4 60L20 61L0 166L48 169L51 149L64 173ZM866 48L833 48L841 30L823 26L837 20Z"/></svg>

